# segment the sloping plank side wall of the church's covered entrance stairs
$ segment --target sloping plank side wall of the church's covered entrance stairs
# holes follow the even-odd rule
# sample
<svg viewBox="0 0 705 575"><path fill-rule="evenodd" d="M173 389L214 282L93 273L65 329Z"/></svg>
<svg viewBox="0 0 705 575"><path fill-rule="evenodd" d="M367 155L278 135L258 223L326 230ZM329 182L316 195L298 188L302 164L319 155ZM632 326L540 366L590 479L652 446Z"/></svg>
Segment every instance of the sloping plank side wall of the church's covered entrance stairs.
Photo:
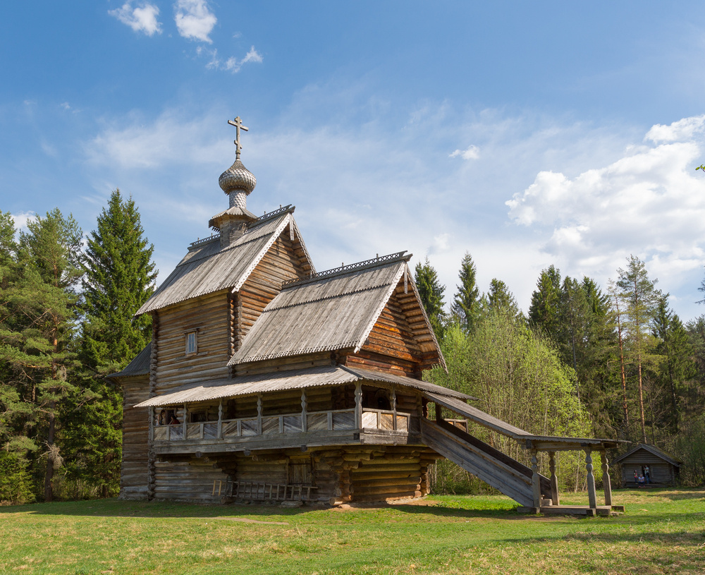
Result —
<svg viewBox="0 0 705 575"><path fill-rule="evenodd" d="M532 470L446 421L421 420L422 440L435 452L511 497L524 507L534 506ZM539 476L541 497L551 499L551 481Z"/></svg>

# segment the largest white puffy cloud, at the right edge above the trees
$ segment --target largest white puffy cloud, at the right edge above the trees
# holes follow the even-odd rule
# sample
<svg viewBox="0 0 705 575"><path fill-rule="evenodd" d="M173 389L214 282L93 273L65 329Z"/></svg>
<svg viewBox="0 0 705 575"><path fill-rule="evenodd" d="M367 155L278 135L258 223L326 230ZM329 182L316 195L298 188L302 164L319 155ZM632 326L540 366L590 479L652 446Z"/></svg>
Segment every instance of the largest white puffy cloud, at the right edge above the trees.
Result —
<svg viewBox="0 0 705 575"><path fill-rule="evenodd" d="M613 276L633 253L673 285L704 260L705 178L695 171L704 122L656 125L645 138L653 145L630 146L574 178L541 171L506 202L509 216L544 237L544 253L572 274Z"/></svg>

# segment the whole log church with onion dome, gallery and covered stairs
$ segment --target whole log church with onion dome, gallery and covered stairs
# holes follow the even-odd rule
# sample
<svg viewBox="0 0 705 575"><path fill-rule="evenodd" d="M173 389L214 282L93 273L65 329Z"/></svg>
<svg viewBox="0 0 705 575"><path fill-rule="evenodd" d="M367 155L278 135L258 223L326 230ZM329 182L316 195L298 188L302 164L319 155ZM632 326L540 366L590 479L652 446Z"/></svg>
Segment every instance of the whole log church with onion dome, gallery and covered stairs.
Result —
<svg viewBox="0 0 705 575"><path fill-rule="evenodd" d="M317 272L282 207L256 217L256 180L236 158L219 178L227 210L137 315L152 342L114 374L124 392L121 497L202 501L381 501L422 497L428 468L447 457L526 509L559 506L554 455L606 440L539 437L422 380L445 367L405 252ZM435 404L429 419L429 404ZM444 418L446 410L451 418ZM520 464L467 432L508 435ZM538 471L548 452L551 477Z"/></svg>

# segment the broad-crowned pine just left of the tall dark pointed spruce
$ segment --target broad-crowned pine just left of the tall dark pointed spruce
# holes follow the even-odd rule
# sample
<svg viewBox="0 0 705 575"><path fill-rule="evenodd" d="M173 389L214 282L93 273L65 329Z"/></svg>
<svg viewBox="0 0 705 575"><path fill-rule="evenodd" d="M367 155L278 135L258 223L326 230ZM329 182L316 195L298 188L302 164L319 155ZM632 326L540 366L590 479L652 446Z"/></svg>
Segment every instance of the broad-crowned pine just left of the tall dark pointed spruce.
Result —
<svg viewBox="0 0 705 575"><path fill-rule="evenodd" d="M46 449L44 499L51 501L54 470L61 465L57 439L63 401L73 392L66 375L75 368L70 344L78 317L75 288L82 272L76 258L82 232L73 217L64 218L59 210L37 217L27 228L20 234L16 272L5 290L2 353L17 397L27 404L26 447Z"/></svg>

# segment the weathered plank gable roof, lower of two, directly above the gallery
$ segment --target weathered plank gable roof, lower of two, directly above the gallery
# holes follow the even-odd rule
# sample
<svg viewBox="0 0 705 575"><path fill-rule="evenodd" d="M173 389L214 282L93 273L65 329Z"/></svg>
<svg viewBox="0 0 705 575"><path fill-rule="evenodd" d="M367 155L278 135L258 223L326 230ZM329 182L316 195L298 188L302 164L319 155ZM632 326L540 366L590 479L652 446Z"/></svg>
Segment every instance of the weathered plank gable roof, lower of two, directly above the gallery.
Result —
<svg viewBox="0 0 705 575"><path fill-rule="evenodd" d="M411 254L399 252L285 282L228 365L318 351L357 353L403 274L409 274L410 258ZM407 285L416 290L413 282ZM432 335L427 317L425 321ZM443 363L434 336L433 341Z"/></svg>

